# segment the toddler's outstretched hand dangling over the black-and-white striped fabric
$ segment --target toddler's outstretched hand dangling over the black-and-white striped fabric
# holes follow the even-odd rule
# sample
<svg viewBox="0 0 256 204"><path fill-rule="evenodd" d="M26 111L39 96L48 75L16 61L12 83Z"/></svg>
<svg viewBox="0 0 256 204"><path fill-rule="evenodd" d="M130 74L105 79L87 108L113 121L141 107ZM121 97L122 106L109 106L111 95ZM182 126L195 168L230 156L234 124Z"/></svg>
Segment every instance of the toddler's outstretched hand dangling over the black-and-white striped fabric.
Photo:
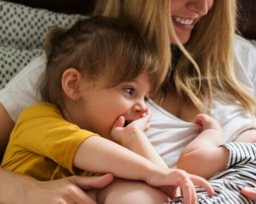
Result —
<svg viewBox="0 0 256 204"><path fill-rule="evenodd" d="M181 169L168 169L166 173L152 171L146 182L152 186L162 186L171 199L176 195L177 187L180 186L184 197L184 203L197 203L195 185L200 185L213 196L215 194L209 182L200 176L191 175Z"/></svg>

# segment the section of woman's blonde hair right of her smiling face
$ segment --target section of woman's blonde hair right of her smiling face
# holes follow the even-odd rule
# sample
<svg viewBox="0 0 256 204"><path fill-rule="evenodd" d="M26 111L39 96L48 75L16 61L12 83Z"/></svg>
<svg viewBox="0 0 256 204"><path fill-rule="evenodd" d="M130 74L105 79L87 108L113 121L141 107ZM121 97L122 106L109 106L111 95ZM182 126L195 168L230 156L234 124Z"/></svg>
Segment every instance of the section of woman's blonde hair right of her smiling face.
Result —
<svg viewBox="0 0 256 204"><path fill-rule="evenodd" d="M201 18L185 45L200 67L200 77L191 71L193 65L184 54L181 54L180 63L175 67L174 82L178 95L188 95L200 110L204 108L205 101L210 107L213 94L218 91L231 94L251 113L256 105L255 99L234 74L236 18L235 0L214 1L213 7ZM225 100L229 101L228 97Z"/></svg>

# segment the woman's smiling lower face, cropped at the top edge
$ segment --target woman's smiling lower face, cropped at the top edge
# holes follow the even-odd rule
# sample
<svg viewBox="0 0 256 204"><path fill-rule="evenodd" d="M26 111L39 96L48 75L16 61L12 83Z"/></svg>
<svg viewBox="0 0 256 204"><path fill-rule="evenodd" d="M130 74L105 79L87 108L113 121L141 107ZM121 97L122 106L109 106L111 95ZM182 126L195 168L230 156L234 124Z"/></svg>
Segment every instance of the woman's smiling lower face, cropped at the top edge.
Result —
<svg viewBox="0 0 256 204"><path fill-rule="evenodd" d="M172 22L179 40L188 42L195 24L207 15L214 0L171 0Z"/></svg>

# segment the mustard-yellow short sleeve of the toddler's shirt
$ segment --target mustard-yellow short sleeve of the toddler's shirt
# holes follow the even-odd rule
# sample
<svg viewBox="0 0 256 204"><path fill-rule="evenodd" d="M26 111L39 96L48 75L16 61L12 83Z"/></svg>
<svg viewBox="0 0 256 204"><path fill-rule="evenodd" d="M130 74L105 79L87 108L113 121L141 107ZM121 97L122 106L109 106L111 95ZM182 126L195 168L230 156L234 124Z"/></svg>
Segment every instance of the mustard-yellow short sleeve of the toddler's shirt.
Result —
<svg viewBox="0 0 256 204"><path fill-rule="evenodd" d="M13 154L32 151L73 172L72 162L77 148L93 135L97 134L65 121L55 106L40 103L20 114L10 140L15 149Z"/></svg>

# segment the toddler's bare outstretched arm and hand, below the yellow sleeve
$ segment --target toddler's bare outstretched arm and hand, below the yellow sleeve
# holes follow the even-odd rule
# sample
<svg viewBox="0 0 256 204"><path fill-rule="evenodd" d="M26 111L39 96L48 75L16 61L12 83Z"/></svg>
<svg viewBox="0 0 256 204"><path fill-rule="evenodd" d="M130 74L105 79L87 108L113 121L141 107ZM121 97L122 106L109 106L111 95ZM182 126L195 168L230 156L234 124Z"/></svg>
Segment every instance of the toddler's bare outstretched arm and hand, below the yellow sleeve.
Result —
<svg viewBox="0 0 256 204"><path fill-rule="evenodd" d="M176 187L183 190L185 201L196 200L194 185L201 185L214 194L206 180L179 169L159 168L154 163L102 137L89 137L81 143L73 158L77 168L97 173L112 173L116 177L142 180L152 186L170 186L164 189L172 197Z"/></svg>

